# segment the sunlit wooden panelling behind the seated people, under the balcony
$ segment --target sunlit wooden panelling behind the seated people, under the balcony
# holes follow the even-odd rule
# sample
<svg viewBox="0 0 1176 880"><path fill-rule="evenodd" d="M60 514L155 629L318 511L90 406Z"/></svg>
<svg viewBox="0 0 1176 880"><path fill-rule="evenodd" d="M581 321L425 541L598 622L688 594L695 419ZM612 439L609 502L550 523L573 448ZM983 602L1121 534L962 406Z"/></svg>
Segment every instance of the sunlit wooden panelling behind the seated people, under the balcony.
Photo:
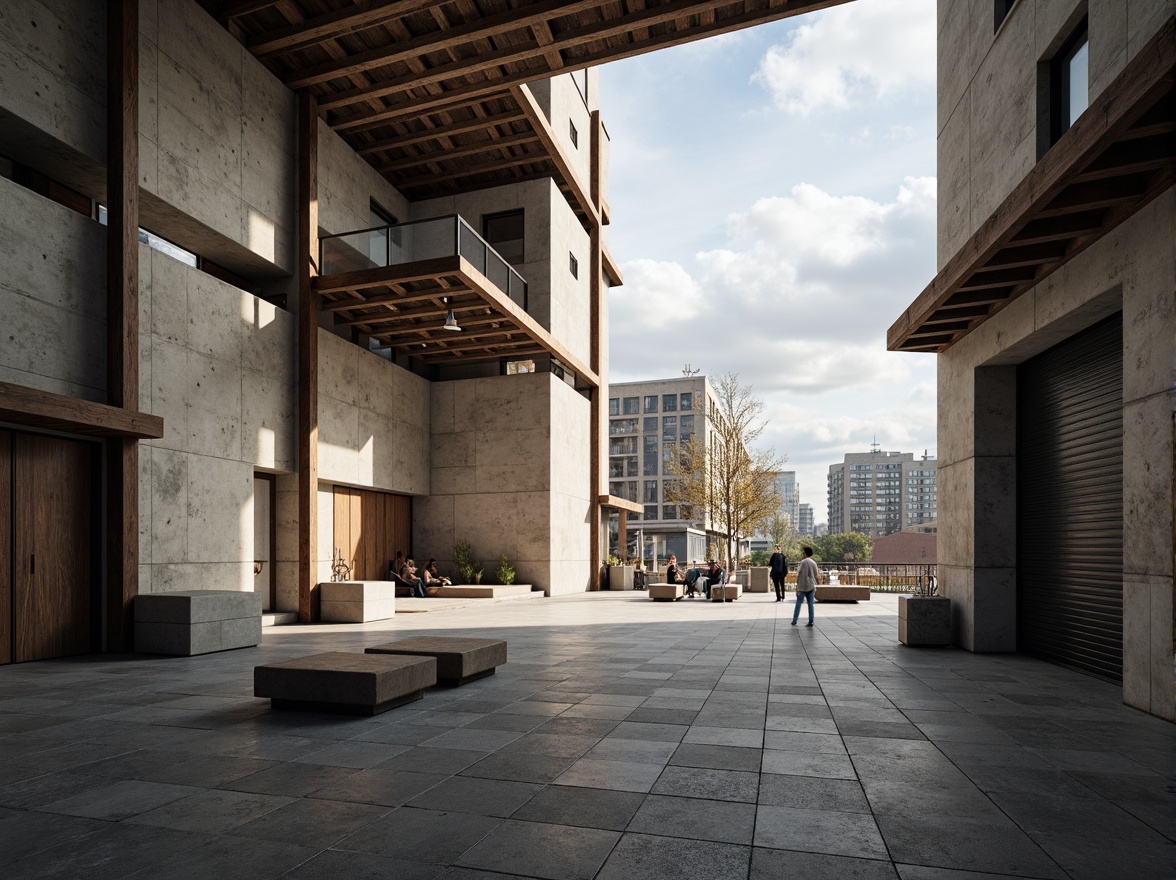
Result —
<svg viewBox="0 0 1176 880"><path fill-rule="evenodd" d="M396 551L412 554L410 498L336 486L334 508L335 547L354 580L383 580Z"/></svg>

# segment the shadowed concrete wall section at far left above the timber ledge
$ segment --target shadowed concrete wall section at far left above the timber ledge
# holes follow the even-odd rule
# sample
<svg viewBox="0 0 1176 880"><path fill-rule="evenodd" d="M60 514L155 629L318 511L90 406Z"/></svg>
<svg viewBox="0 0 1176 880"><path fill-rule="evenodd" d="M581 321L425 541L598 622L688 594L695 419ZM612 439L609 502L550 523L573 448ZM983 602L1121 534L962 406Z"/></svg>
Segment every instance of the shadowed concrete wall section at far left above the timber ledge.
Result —
<svg viewBox="0 0 1176 880"><path fill-rule="evenodd" d="M0 178L0 381L106 401L106 231Z"/></svg>

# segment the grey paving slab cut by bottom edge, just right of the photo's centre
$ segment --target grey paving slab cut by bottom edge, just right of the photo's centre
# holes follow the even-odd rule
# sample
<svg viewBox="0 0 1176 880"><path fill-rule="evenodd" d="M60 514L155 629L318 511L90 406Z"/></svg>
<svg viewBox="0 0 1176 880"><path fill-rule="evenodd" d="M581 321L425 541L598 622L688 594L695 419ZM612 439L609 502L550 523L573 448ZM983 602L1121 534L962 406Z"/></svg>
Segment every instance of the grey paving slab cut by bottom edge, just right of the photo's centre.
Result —
<svg viewBox="0 0 1176 880"><path fill-rule="evenodd" d="M751 848L626 833L597 880L746 880Z"/></svg>

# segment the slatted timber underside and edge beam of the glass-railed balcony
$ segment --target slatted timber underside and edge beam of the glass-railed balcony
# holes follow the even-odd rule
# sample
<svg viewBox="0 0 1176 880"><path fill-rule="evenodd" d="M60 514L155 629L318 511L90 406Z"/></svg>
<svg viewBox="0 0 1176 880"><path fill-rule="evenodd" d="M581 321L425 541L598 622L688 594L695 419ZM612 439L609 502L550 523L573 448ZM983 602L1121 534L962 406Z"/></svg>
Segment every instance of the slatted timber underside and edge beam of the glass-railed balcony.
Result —
<svg viewBox="0 0 1176 880"><path fill-rule="evenodd" d="M463 256L395 264L314 279L323 312L423 364L550 354L589 387L600 375ZM460 332L445 328L453 311Z"/></svg>

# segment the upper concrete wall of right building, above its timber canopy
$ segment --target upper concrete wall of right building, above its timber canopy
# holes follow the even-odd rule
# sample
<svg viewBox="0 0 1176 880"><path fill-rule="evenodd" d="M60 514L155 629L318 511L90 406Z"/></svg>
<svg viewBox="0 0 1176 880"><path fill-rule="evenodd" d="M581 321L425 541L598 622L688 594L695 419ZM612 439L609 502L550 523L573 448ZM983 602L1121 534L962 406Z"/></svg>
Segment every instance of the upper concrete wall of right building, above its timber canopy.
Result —
<svg viewBox="0 0 1176 880"><path fill-rule="evenodd" d="M938 4L938 266L1037 161L1037 62L1089 15L1090 100L1114 80L1174 0L1020 0L993 33L993 5Z"/></svg>

